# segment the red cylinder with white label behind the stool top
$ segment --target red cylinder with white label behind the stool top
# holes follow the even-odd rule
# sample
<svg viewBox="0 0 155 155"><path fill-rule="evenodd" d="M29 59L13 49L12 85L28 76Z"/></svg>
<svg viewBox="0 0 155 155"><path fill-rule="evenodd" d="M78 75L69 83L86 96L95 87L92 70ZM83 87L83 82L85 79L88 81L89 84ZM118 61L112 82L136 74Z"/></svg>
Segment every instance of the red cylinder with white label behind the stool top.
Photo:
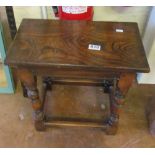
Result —
<svg viewBox="0 0 155 155"><path fill-rule="evenodd" d="M58 15L61 20L92 20L92 6L59 6Z"/></svg>

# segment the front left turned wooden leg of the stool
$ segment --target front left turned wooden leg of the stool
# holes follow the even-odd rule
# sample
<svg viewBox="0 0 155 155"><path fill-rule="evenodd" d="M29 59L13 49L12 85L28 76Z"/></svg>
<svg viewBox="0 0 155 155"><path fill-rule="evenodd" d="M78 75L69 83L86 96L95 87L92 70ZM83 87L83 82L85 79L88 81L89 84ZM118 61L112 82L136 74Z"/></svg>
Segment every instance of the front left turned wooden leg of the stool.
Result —
<svg viewBox="0 0 155 155"><path fill-rule="evenodd" d="M27 90L27 96L31 99L33 114L34 114L34 123L35 128L38 131L43 131L44 126L44 115L43 115L43 104L39 98L39 92L37 89L37 82L33 74L27 69L18 69L18 77L25 86Z"/></svg>

